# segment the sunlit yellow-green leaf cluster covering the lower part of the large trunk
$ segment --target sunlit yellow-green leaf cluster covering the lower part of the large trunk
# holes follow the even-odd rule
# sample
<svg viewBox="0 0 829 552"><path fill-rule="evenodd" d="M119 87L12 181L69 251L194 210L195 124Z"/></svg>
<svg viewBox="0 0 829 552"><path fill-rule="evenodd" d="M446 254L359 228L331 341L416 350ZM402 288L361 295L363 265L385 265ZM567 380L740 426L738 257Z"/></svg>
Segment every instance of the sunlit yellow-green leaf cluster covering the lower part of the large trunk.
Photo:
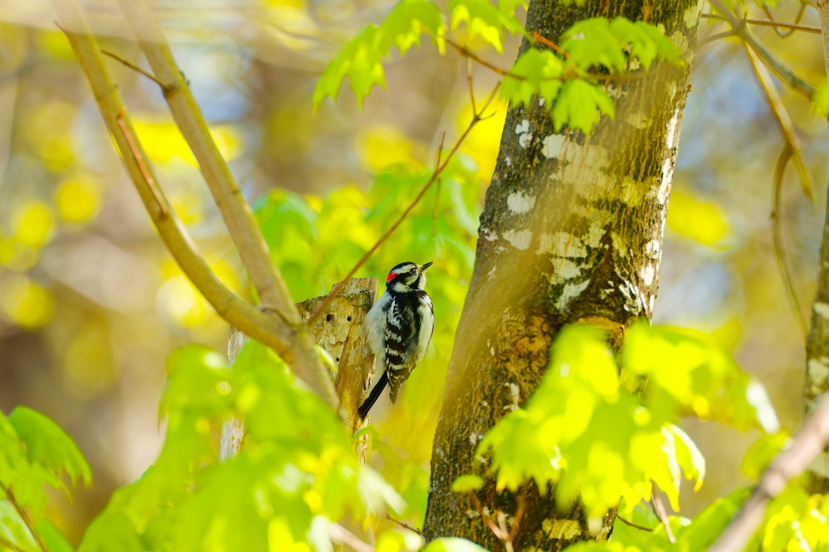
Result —
<svg viewBox="0 0 829 552"><path fill-rule="evenodd" d="M700 335L637 324L623 351L620 369L598 329L560 333L526 407L478 446L499 489L515 492L531 479L545 491L555 483L560 503L580 498L598 517L620 496L629 509L649 500L655 483L678 510L681 479L699 486L705 478L705 459L677 425L681 416L778 430L759 382Z"/></svg>

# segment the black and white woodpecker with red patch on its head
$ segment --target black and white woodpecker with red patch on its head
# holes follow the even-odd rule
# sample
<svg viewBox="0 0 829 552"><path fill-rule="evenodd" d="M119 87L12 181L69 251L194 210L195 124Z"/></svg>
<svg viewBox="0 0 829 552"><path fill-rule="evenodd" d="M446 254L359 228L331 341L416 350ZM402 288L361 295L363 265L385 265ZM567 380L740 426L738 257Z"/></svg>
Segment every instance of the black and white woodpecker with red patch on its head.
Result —
<svg viewBox="0 0 829 552"><path fill-rule="evenodd" d="M357 413L361 419L380 397L386 384L391 404L414 367L423 359L434 330L434 309L425 271L431 262L401 262L385 276L385 292L363 322L371 352L377 357L374 382L363 394Z"/></svg>

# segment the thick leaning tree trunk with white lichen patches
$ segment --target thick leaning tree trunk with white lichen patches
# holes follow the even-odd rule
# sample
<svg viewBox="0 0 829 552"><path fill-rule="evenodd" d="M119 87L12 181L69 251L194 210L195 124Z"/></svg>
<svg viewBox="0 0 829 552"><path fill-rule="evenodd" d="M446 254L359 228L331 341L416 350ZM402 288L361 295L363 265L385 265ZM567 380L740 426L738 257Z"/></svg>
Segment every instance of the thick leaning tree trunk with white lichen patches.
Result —
<svg viewBox="0 0 829 552"><path fill-rule="evenodd" d="M663 26L690 52L701 8L701 0L532 0L526 26L558 43L580 19L623 16ZM479 440L536 389L564 324L602 325L618 343L634 319L650 318L689 74L666 66L611 85L616 117L589 137L555 133L537 101L507 114L434 438L427 540L461 536L503 550L479 510L501 510L509 530L516 497L490 481L478 508L453 494L453 480L487 473L474 454ZM561 513L535 487L522 513L515 550L606 538L615 518L584 520L578 505Z"/></svg>

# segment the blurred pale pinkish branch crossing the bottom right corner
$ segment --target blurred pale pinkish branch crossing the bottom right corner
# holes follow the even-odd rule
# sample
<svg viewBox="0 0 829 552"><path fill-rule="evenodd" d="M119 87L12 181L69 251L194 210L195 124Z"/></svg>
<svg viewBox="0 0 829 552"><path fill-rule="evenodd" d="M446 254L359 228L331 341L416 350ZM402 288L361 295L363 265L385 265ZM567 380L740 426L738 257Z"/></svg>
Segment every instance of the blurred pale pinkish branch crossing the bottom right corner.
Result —
<svg viewBox="0 0 829 552"><path fill-rule="evenodd" d="M802 425L788 449L774 458L760 476L749 499L731 520L729 526L709 549L710 552L738 552L744 550L751 535L763 521L766 504L777 497L786 484L803 473L813 458L829 444L829 397L824 394L821 404Z"/></svg>

